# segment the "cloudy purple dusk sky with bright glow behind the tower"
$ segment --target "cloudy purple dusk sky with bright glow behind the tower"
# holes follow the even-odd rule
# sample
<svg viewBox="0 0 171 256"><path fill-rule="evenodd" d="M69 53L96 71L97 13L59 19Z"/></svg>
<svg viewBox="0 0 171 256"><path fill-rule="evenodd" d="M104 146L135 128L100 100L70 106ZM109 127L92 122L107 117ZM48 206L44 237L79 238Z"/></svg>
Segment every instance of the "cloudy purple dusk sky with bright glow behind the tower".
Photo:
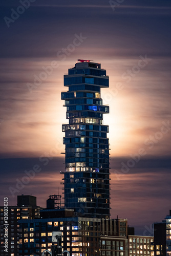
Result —
<svg viewBox="0 0 171 256"><path fill-rule="evenodd" d="M110 126L111 217L128 218L137 233L149 234L168 214L171 3L118 3L1 1L1 205L4 196L16 204L23 193L45 206L61 191L61 124L67 120L60 92L63 74L82 58L100 62L110 77L101 93L110 105L104 123ZM49 157L46 166L40 157ZM41 171L13 197L9 187L35 164Z"/></svg>

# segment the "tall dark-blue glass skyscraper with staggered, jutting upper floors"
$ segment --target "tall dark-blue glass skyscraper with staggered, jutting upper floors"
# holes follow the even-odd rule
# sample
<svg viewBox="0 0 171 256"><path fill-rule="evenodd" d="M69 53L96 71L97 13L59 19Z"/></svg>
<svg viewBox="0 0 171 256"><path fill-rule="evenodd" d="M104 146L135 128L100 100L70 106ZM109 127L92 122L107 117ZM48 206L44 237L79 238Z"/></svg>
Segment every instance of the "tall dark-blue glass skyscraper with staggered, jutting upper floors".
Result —
<svg viewBox="0 0 171 256"><path fill-rule="evenodd" d="M109 106L102 104L101 88L109 87L109 77L100 63L82 61L64 75L61 93L67 107L65 132L65 207L79 216L110 218L109 126L103 114Z"/></svg>

